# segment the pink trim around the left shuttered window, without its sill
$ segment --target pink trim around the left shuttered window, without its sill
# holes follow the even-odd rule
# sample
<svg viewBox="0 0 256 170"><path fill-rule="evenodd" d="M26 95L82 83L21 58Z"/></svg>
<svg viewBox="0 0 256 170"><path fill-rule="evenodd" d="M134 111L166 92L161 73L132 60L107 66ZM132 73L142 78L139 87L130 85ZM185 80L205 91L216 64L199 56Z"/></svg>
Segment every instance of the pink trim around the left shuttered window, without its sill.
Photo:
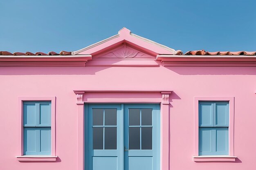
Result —
<svg viewBox="0 0 256 170"><path fill-rule="evenodd" d="M51 101L51 105L52 105L52 117L51 117L51 138L52 138L52 157L56 157L56 125L55 125L55 115L56 115L56 97L54 96L50 96L50 97L18 97L18 116L19 116L19 121L20 124L18 124L18 129L20 130L20 144L19 144L19 150L20 150L20 156L18 156L17 158L22 157L22 159L26 159L27 157L31 158L34 156L28 156L28 155L23 155L23 101ZM45 156L47 158L49 158L48 156ZM38 158L38 157L37 157ZM38 158L39 159L39 158ZM18 160L18 159L17 159ZM31 159L31 160L36 160L36 159ZM31 161L30 160L30 161ZM42 160L42 159L40 159ZM38 160L36 160L38 161Z"/></svg>

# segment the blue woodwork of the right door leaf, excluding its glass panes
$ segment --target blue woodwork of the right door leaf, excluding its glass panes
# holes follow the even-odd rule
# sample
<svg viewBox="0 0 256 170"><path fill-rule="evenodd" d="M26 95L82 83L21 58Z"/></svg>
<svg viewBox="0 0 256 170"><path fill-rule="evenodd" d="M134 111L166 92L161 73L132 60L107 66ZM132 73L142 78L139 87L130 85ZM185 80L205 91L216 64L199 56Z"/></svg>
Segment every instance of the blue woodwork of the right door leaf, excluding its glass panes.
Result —
<svg viewBox="0 0 256 170"><path fill-rule="evenodd" d="M152 149L143 150L141 146L136 150L129 149L129 109L152 109ZM140 116L141 118L141 116ZM130 126L134 127L134 126ZM143 127L140 121L140 129ZM150 127L150 126L146 126ZM125 104L124 105L124 170L159 170L160 169L160 110L159 104Z"/></svg>

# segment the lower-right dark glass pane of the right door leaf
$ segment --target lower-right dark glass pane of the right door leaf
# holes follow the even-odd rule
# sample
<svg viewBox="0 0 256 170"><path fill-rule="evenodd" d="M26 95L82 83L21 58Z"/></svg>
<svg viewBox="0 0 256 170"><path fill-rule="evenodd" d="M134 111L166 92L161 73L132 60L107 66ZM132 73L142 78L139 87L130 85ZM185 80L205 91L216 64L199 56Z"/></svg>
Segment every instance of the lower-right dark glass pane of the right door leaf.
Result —
<svg viewBox="0 0 256 170"><path fill-rule="evenodd" d="M141 149L152 149L152 127L141 128Z"/></svg>

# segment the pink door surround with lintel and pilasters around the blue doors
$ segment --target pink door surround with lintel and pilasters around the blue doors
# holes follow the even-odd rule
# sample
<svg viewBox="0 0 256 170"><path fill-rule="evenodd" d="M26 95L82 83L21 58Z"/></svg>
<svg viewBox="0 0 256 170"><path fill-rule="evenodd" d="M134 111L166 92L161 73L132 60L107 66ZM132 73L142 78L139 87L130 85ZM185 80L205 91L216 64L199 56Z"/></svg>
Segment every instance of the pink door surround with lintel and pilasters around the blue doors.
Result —
<svg viewBox="0 0 256 170"><path fill-rule="evenodd" d="M85 103L159 103L161 113L161 170L170 169L170 125L169 125L169 96L172 91L74 91L76 94L78 114L78 168L84 168L84 104ZM164 149L163 149L164 146ZM83 148L83 149L81 149Z"/></svg>

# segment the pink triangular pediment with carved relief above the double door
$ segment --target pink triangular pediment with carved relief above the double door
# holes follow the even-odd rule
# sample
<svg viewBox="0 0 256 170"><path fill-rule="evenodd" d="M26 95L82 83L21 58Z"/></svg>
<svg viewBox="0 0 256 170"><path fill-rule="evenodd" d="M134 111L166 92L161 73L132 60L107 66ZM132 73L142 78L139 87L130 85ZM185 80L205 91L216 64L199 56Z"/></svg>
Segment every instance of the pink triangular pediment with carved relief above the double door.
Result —
<svg viewBox="0 0 256 170"><path fill-rule="evenodd" d="M73 55L92 55L92 58L155 58L157 55L174 55L176 51L157 42L131 33L123 28L117 35L92 44Z"/></svg>

